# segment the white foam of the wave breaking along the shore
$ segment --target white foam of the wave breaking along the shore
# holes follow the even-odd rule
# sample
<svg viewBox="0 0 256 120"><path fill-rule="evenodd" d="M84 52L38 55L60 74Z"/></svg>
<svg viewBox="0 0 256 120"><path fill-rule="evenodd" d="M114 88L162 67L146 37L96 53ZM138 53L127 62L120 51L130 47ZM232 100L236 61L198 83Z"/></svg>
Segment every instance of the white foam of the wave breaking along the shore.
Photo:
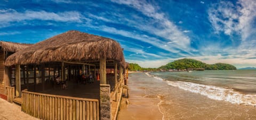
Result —
<svg viewBox="0 0 256 120"><path fill-rule="evenodd" d="M238 105L252 105L256 107L256 94L242 94L229 88L191 82L167 81L167 84L174 87L179 87L180 89L186 91L205 95L210 99L223 100L231 103L237 103Z"/></svg>

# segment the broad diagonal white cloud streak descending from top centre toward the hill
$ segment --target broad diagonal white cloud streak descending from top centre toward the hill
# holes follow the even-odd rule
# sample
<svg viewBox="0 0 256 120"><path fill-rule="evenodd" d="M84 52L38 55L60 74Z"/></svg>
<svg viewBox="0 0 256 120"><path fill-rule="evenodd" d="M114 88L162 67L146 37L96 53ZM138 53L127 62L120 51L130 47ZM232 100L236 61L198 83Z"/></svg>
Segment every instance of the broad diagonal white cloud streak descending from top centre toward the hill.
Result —
<svg viewBox="0 0 256 120"><path fill-rule="evenodd" d="M157 36L161 36L165 39L171 40L173 37L179 37L179 41L177 45L173 47L179 48L188 48L190 45L190 39L180 31L177 26L174 25L169 19L165 17L163 12L158 10L157 5L150 4L146 1L135 1L135 0L111 0L112 2L118 4L124 4L130 7L133 7L135 10L140 11L147 17L153 18L154 23L157 23L158 26L154 25L146 25L143 23L139 25L140 29L146 30L149 33L153 33ZM153 23L153 24L154 24Z"/></svg>

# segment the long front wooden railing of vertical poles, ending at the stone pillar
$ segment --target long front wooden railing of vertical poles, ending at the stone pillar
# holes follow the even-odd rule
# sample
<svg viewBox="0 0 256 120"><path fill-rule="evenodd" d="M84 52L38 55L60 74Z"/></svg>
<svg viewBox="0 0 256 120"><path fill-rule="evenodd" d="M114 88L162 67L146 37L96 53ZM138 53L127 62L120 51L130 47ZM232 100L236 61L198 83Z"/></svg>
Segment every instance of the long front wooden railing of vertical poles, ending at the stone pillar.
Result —
<svg viewBox="0 0 256 120"><path fill-rule="evenodd" d="M22 92L21 110L39 119L100 119L99 100Z"/></svg>

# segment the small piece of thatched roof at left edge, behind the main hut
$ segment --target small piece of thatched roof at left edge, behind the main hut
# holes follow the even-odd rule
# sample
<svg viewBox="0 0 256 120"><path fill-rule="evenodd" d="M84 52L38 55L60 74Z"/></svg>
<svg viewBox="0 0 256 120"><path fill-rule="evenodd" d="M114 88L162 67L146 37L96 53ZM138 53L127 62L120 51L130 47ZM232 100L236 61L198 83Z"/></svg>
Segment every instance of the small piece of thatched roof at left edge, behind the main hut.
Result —
<svg viewBox="0 0 256 120"><path fill-rule="evenodd" d="M17 51L25 49L26 47L28 47L30 45L32 45L32 44L21 44L21 43L0 41L1 50L7 51L7 52L17 52Z"/></svg>

